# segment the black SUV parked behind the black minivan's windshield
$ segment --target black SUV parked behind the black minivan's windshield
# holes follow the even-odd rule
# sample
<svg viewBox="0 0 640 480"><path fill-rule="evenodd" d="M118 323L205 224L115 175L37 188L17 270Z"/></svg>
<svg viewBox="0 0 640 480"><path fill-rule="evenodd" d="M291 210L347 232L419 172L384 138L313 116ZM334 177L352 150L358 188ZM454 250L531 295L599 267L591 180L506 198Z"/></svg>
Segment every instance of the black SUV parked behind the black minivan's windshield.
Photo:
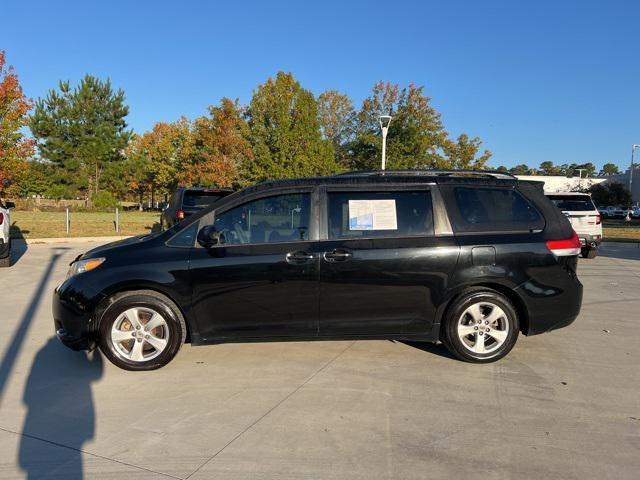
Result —
<svg viewBox="0 0 640 480"><path fill-rule="evenodd" d="M189 215L233 193L229 188L178 187L160 215L160 226L171 228Z"/></svg>

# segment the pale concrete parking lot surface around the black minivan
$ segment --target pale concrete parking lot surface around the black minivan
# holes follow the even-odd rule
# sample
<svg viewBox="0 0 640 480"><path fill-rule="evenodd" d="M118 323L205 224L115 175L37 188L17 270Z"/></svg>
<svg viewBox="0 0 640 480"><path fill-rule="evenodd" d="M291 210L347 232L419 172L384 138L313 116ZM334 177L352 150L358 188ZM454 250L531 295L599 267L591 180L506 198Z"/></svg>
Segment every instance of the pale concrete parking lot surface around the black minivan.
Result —
<svg viewBox="0 0 640 480"><path fill-rule="evenodd" d="M94 245L0 271L0 478L585 479L640 471L640 248L580 260L582 313L471 365L391 341L185 345L125 372L53 336Z"/></svg>

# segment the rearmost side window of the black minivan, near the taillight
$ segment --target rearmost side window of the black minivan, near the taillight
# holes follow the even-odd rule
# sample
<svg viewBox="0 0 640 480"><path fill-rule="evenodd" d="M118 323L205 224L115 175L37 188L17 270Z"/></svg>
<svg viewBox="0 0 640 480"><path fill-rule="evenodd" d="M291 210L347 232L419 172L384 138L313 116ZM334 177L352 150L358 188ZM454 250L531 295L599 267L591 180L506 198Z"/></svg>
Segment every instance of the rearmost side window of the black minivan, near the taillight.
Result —
<svg viewBox="0 0 640 480"><path fill-rule="evenodd" d="M461 232L542 230L540 213L519 192L510 188L456 187L458 212L454 227Z"/></svg>

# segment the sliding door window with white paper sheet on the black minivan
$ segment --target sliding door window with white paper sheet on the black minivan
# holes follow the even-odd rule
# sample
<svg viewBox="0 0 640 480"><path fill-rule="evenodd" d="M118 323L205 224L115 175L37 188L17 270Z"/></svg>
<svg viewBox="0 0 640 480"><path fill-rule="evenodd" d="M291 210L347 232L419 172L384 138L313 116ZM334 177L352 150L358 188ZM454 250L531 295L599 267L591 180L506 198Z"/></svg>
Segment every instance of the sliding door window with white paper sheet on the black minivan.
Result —
<svg viewBox="0 0 640 480"><path fill-rule="evenodd" d="M433 235L428 191L332 192L329 239Z"/></svg>

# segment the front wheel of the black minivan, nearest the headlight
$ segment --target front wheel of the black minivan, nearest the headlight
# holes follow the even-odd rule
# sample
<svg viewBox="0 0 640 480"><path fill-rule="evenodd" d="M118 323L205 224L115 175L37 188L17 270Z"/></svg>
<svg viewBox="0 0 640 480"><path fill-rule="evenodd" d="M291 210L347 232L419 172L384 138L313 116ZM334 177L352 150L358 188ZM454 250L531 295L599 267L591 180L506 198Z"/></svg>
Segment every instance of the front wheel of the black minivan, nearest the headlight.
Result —
<svg viewBox="0 0 640 480"><path fill-rule="evenodd" d="M140 290L113 298L102 314L99 336L100 350L117 367L156 370L176 356L185 342L187 326L169 298Z"/></svg>

